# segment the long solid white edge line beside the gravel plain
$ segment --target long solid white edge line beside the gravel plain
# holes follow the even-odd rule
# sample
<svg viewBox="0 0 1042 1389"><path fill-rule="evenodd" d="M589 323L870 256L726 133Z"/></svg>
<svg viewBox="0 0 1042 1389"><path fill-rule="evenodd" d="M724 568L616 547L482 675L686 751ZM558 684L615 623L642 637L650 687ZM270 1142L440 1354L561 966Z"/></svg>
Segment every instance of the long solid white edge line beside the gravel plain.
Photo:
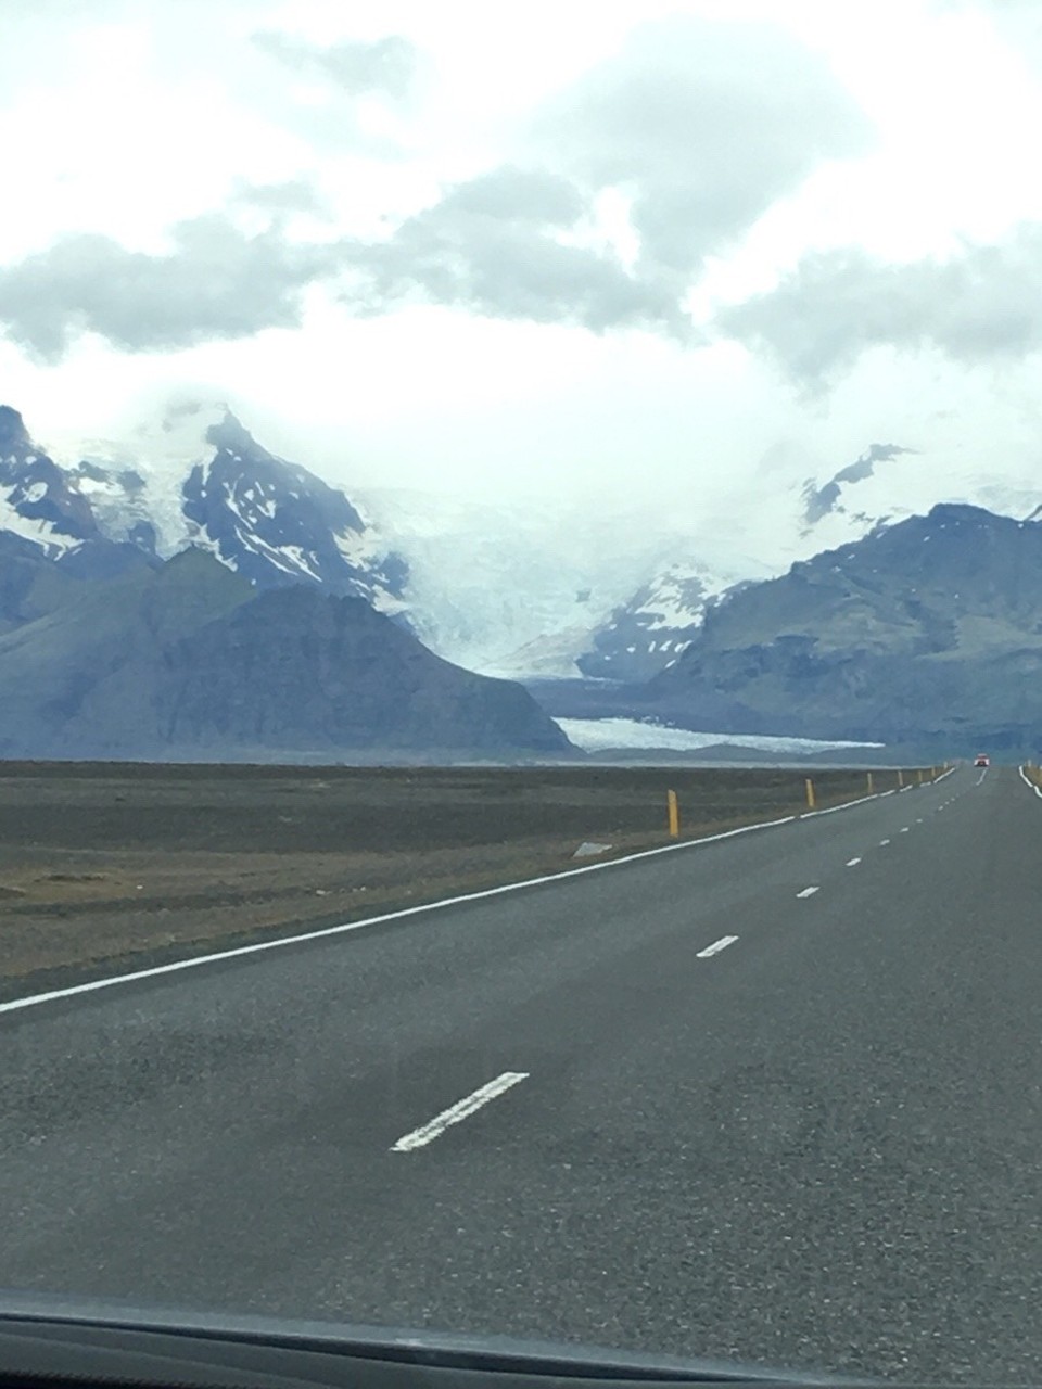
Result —
<svg viewBox="0 0 1042 1389"><path fill-rule="evenodd" d="M948 775L948 772L945 772ZM656 854L671 854L681 849L699 849L703 845L716 845L721 839L734 839L736 835L750 835L760 829L775 829L778 825L791 825L797 820L810 820L811 815L831 815L836 810L852 810L870 800L884 800L892 796L893 790L877 792L873 796L861 796L859 800L843 801L842 806L829 806L827 810L806 811L803 815L782 815L781 820L763 820L756 825L739 825L738 829L724 829L718 835L706 835L703 839L685 839L675 845L660 845L657 849L642 849L635 854L624 854L621 858L609 858L599 864L584 864L581 868L565 868L563 872L543 874L539 878L524 878L520 882L500 883L497 888L482 888L481 892L465 892L458 897L442 897L439 901L425 901L417 907L400 907L397 911L385 911L379 917L364 917L361 921L345 921L338 926L321 926L318 931L304 931L292 936L279 936L276 940L257 940L250 946L236 946L232 950L215 950L211 954L192 956L189 960L172 960L169 964L157 964L150 970L132 970L129 974L114 974L104 979L90 979L88 983L74 983L67 989L50 989L47 993L31 993L25 999L11 999L0 1003L0 1015L4 1013L18 1013L22 1008L35 1008L40 1003L57 1003L58 999L74 999L82 993L97 993L100 989L111 989L119 983L138 983L140 979L158 979L164 974L178 974L182 970L196 970L206 964L220 964L222 960L242 960L246 956L261 954L264 950L281 950L283 946L306 945L308 940L322 940L329 936L347 935L352 931L363 931L367 926L378 926L385 921L402 921L406 917L415 917L422 911L439 911L442 907L458 907L465 901L482 901L486 897L500 897L507 892L520 892L524 888L540 888L549 882L561 882L567 878L578 878L581 874L600 872L604 868L621 868L624 864L638 863L640 858L653 858Z"/></svg>

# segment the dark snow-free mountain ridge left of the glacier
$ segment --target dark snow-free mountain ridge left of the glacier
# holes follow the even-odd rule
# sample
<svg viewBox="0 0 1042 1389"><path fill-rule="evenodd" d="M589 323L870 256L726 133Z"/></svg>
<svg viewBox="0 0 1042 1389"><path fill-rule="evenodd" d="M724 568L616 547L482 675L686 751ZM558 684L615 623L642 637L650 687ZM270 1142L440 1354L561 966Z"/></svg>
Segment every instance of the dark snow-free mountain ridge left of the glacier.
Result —
<svg viewBox="0 0 1042 1389"><path fill-rule="evenodd" d="M67 589L0 636L3 757L568 756L525 690L450 665L363 599L257 593L211 556Z"/></svg>

